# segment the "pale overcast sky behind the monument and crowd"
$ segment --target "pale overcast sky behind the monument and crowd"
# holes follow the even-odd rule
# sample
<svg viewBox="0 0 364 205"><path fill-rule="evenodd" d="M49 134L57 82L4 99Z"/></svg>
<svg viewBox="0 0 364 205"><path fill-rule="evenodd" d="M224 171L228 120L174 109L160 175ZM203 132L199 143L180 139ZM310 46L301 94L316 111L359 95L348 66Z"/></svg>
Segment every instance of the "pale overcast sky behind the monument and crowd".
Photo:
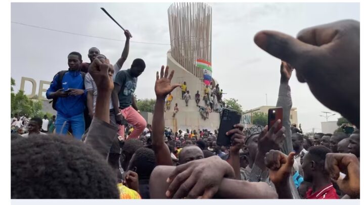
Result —
<svg viewBox="0 0 364 205"><path fill-rule="evenodd" d="M21 77L51 81L67 69L71 51L87 59L90 47L98 47L116 62L124 47L122 30L101 10L104 7L126 29L130 51L123 68L134 58L143 58L147 69L139 77L138 98L154 98L155 72L166 64L169 46L167 9L170 3L12 3L11 76L20 88ZM295 36L301 29L341 19L359 21L359 3L209 3L212 6L212 76L226 98L236 98L244 110L276 105L280 60L260 50L253 42L260 30L278 30ZM83 35L55 32L22 24ZM118 40L117 40L118 39ZM154 43L142 44L137 42ZM330 111L317 101L306 84L290 80L293 107L304 132L321 131L321 111ZM26 84L30 93L30 84ZM38 88L36 90L38 92ZM337 117L336 117L337 116ZM330 117L336 120L340 115Z"/></svg>

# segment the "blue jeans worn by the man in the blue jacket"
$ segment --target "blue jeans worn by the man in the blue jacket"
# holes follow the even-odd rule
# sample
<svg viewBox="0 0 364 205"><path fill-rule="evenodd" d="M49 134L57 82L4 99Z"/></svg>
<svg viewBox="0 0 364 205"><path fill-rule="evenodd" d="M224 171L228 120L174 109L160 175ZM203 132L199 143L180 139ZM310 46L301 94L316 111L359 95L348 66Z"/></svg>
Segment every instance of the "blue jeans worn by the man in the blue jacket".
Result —
<svg viewBox="0 0 364 205"><path fill-rule="evenodd" d="M64 122L66 122L64 128L63 124ZM65 117L60 113L57 113L57 118L56 118L56 133L57 134L61 134L61 135L66 135L69 126L71 126L72 129L72 135L74 136L74 138L81 140L81 137L85 131L85 122L84 122L84 116L83 116L83 112L78 114L78 115L74 115L71 117Z"/></svg>

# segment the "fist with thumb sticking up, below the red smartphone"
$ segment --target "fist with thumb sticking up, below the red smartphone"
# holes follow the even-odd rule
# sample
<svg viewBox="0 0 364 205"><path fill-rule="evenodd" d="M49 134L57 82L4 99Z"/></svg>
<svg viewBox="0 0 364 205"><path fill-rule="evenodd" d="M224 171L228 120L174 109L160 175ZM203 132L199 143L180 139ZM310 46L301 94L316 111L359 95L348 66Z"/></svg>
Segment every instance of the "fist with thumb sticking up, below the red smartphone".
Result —
<svg viewBox="0 0 364 205"><path fill-rule="evenodd" d="M278 150L270 150L265 154L264 163L269 169L269 179L276 186L285 186L292 174L294 152L288 156Z"/></svg>

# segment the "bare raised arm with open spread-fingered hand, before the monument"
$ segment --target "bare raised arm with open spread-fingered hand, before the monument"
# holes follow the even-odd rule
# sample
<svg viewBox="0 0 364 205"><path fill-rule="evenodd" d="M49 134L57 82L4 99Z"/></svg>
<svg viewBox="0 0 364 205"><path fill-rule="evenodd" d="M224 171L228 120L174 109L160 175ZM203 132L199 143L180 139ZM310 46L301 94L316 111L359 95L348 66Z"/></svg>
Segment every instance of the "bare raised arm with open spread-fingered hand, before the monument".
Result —
<svg viewBox="0 0 364 205"><path fill-rule="evenodd" d="M160 77L157 72L157 79L154 87L157 100L152 121L152 147L156 155L157 165L173 165L169 148L167 144L164 143L164 102L166 96L177 88L179 84L170 85L174 70L171 71L169 76L168 70L169 68L167 66L164 72L164 66L162 66Z"/></svg>

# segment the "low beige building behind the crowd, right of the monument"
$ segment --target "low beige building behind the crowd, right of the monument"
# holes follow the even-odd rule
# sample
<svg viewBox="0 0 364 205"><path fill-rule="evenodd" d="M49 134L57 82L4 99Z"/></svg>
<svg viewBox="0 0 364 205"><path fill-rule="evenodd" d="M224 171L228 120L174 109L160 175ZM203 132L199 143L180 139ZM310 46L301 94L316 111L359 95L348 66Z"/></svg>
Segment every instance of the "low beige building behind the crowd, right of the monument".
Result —
<svg viewBox="0 0 364 205"><path fill-rule="evenodd" d="M253 112L263 112L265 114L268 114L268 109L275 108L276 106L260 106L257 108L253 108L250 110L246 110L243 113L241 123L245 125L246 128L250 128L253 126ZM297 108L292 107L291 113L290 113L290 121L291 125L296 124L298 127L298 119L297 119Z"/></svg>

